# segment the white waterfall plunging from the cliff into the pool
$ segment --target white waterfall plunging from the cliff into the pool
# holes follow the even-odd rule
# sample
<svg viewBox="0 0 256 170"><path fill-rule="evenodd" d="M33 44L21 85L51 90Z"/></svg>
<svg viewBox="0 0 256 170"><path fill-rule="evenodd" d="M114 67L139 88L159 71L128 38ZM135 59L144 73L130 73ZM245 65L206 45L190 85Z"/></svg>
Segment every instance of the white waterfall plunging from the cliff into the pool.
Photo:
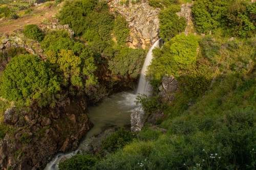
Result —
<svg viewBox="0 0 256 170"><path fill-rule="evenodd" d="M146 80L145 76L146 76L147 67L151 64L151 61L153 59L153 50L154 50L154 48L159 47L159 42L160 42L160 40L157 40L153 44L153 46L150 48L150 50L148 51L148 53L146 55L146 59L144 61L142 70L140 72L140 79L139 79L136 95L137 94L146 94L146 95L150 94L151 86L150 86L150 83Z"/></svg>

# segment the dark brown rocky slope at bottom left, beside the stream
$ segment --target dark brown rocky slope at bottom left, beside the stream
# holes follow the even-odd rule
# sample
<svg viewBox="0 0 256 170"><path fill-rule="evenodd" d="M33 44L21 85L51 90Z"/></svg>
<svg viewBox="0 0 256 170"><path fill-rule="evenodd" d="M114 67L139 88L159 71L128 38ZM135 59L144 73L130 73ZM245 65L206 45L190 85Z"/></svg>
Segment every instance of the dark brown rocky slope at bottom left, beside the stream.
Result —
<svg viewBox="0 0 256 170"><path fill-rule="evenodd" d="M57 152L75 150L91 123L86 101L64 100L55 108L7 109L13 129L0 139L0 169L42 169Z"/></svg>

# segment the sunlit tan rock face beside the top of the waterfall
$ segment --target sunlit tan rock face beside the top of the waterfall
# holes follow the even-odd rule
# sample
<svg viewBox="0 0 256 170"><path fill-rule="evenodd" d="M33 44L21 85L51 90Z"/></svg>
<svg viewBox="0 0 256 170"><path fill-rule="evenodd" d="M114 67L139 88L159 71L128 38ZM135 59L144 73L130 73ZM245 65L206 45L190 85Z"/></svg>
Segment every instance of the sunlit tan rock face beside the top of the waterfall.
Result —
<svg viewBox="0 0 256 170"><path fill-rule="evenodd" d="M159 39L160 9L155 9L142 0L138 3L123 3L122 0L109 0L110 10L121 14L129 23L130 37L127 44L133 48L152 46Z"/></svg>

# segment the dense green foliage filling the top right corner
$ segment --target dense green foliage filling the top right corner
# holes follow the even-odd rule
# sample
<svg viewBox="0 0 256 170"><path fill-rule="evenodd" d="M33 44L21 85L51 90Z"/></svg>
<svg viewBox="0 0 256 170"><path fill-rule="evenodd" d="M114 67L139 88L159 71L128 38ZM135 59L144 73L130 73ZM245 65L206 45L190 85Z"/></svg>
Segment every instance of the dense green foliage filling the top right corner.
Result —
<svg viewBox="0 0 256 170"><path fill-rule="evenodd" d="M256 4L246 1L199 0L192 9L196 29L209 33L217 28L231 36L251 37L255 34Z"/></svg>

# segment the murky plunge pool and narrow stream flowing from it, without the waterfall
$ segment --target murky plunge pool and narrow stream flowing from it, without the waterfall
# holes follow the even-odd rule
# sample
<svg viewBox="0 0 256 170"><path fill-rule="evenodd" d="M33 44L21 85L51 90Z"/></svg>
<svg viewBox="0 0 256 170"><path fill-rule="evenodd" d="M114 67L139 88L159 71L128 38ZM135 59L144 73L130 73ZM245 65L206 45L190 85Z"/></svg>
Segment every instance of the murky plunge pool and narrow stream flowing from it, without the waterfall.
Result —
<svg viewBox="0 0 256 170"><path fill-rule="evenodd" d="M87 147L88 140L100 134L105 128L110 126L123 127L130 124L130 115L135 104L136 94L130 92L120 92L104 99L100 104L88 107L88 116L94 126L80 142L76 151L71 153L59 153L47 164L45 170L57 170L61 159L70 158L78 151Z"/></svg>

